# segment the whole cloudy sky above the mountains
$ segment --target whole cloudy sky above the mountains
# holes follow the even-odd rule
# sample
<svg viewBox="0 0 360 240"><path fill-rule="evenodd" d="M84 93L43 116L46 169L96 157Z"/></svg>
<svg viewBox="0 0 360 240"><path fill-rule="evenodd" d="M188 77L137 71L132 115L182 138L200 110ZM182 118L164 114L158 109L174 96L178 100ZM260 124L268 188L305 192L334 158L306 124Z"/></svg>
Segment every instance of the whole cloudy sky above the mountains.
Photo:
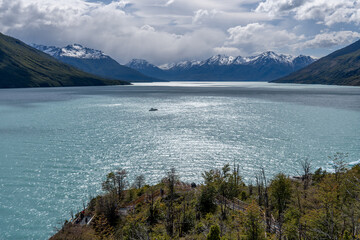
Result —
<svg viewBox="0 0 360 240"><path fill-rule="evenodd" d="M321 57L360 38L357 0L0 0L0 31L120 63L263 51Z"/></svg>

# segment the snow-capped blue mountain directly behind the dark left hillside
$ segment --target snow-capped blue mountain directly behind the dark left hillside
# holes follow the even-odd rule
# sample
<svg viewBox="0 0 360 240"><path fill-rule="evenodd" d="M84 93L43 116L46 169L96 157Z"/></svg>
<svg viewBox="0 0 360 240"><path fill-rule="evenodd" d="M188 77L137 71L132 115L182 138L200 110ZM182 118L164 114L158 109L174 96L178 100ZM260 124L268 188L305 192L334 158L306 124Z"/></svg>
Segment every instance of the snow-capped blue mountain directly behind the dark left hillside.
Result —
<svg viewBox="0 0 360 240"><path fill-rule="evenodd" d="M87 48L80 44L72 44L61 48L38 44L32 44L32 46L61 62L101 77L130 82L160 81L159 79L146 76L132 68L119 64L100 50Z"/></svg>

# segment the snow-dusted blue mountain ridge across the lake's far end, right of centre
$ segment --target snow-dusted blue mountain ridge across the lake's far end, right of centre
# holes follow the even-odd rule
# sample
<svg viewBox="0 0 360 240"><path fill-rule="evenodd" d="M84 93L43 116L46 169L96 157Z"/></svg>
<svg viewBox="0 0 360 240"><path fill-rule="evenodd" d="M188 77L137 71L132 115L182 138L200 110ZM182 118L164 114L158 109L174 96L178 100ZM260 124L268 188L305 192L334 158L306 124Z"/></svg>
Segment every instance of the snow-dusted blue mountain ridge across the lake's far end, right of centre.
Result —
<svg viewBox="0 0 360 240"><path fill-rule="evenodd" d="M155 66L143 59L133 59L126 66L148 76L166 80L269 81L301 69L316 59L272 51L250 57L215 55L203 61L183 61Z"/></svg>

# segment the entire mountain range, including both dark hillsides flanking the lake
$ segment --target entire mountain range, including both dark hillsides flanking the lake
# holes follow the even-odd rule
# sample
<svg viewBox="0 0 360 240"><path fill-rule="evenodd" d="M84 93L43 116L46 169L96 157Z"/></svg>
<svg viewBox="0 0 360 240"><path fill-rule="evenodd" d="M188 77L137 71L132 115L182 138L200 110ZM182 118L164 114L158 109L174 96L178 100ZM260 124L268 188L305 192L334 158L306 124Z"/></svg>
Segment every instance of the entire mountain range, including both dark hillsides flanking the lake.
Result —
<svg viewBox="0 0 360 240"><path fill-rule="evenodd" d="M310 56L294 57L269 51L251 57L216 55L203 61L183 61L161 66L142 59L133 59L124 66L99 50L79 44L63 48L33 46L36 49L0 33L0 87L128 84L106 78L360 86L360 41L319 60Z"/></svg>

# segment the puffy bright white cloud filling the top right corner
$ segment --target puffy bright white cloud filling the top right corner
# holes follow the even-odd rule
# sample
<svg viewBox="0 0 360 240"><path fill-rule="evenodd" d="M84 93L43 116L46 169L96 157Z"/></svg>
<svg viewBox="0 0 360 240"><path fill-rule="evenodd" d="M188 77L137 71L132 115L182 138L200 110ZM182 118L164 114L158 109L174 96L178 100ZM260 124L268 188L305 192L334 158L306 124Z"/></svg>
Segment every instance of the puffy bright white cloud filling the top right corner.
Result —
<svg viewBox="0 0 360 240"><path fill-rule="evenodd" d="M336 23L360 23L360 1L354 0L265 0L256 12L273 17L294 16L297 20L316 20L331 26Z"/></svg>

